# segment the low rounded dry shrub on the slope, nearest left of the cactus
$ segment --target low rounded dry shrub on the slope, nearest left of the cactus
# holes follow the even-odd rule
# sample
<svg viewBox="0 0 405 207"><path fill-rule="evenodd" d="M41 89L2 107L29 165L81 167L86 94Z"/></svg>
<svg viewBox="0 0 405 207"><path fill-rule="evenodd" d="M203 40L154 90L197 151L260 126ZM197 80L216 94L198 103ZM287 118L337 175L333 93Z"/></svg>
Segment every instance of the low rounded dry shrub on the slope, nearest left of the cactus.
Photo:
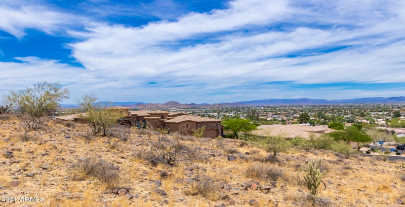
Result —
<svg viewBox="0 0 405 207"><path fill-rule="evenodd" d="M255 164L247 167L244 175L253 179L277 180L279 177L283 177L283 171L269 168L269 166L263 164Z"/></svg>

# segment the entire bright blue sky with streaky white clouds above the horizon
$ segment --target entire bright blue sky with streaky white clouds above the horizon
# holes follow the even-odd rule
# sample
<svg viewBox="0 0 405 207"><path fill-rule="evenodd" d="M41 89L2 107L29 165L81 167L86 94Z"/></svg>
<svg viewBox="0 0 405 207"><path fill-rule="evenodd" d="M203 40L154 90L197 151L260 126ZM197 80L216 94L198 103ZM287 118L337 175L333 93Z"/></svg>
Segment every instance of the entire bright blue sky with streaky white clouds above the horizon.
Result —
<svg viewBox="0 0 405 207"><path fill-rule="evenodd" d="M103 101L405 95L405 1L1 0L0 94Z"/></svg>

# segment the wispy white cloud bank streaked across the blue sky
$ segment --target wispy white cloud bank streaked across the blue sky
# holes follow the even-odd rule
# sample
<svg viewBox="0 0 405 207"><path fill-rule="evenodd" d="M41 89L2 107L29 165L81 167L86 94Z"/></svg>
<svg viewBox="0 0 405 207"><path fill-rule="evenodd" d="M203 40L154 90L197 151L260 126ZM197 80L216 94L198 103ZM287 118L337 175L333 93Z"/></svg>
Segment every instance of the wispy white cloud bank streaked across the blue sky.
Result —
<svg viewBox="0 0 405 207"><path fill-rule="evenodd" d="M69 20L91 19L45 7L15 5L0 6L0 17L1 8L18 18L7 17L3 22L0 19L0 29L17 37L23 36L27 28L51 34L61 25L69 26ZM41 14L36 16L38 12ZM51 18L60 13L66 18ZM8 67L24 71L36 67L39 74L50 71L49 77L55 80L62 71L74 71L63 73L63 78L72 82L71 87L78 93L85 88L103 93L106 98L133 94L141 101L151 94L165 94L166 99L186 102L292 98L296 91L256 88L254 83L389 83L403 82L405 78L402 1L233 0L225 9L192 12L140 27L83 22L84 31L69 27L68 32L78 38L68 46L83 69L32 58L21 59L24 63L0 65L9 64ZM39 68L44 65L49 70ZM32 79L39 78L38 74L27 74ZM21 79L27 74L9 76ZM78 77L80 80L75 81ZM146 84L151 81L158 82L159 87ZM235 89L238 87L243 89ZM207 95L213 91L227 93ZM346 93L339 87L324 87L316 94L319 97L310 97L310 93L297 96L329 98L332 91L341 91L341 98L355 93L381 93ZM185 93L192 95L181 97ZM402 91L393 90L387 96L395 93L401 95Z"/></svg>

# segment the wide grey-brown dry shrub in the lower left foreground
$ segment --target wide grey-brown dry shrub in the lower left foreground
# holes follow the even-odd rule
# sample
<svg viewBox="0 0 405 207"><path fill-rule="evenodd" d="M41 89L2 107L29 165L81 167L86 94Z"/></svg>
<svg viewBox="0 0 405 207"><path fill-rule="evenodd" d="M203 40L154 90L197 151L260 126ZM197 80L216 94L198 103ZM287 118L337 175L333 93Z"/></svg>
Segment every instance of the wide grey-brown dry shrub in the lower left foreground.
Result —
<svg viewBox="0 0 405 207"><path fill-rule="evenodd" d="M95 158L80 158L70 167L72 180L81 181L89 177L95 177L106 189L113 189L120 183L121 177L116 168L103 160Z"/></svg>

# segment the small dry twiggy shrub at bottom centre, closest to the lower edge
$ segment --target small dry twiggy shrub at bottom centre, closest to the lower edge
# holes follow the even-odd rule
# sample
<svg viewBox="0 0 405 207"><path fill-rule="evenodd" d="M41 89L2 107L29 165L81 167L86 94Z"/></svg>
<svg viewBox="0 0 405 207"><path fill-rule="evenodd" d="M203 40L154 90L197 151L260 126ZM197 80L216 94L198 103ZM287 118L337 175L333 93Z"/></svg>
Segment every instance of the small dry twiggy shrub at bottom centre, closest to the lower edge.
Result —
<svg viewBox="0 0 405 207"><path fill-rule="evenodd" d="M220 189L219 183L215 183L210 177L203 176L199 179L195 179L184 193L187 196L201 195L208 200L217 201L219 199L218 192Z"/></svg>

